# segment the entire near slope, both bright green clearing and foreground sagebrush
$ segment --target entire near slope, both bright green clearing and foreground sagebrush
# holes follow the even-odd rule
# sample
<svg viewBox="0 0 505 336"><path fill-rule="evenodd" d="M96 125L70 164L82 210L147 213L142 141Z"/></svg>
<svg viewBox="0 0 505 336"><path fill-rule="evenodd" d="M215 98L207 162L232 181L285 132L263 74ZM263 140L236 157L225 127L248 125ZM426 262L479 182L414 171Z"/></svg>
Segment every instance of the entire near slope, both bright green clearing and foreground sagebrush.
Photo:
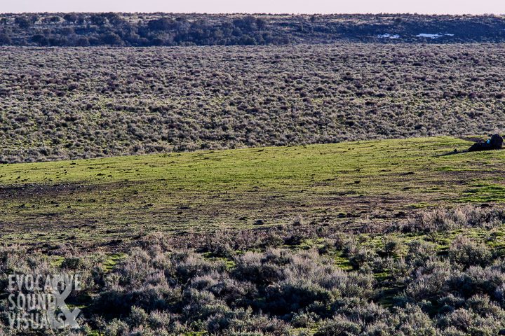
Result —
<svg viewBox="0 0 505 336"><path fill-rule="evenodd" d="M505 151L470 144L0 165L0 278L79 274L60 335L500 335Z"/></svg>

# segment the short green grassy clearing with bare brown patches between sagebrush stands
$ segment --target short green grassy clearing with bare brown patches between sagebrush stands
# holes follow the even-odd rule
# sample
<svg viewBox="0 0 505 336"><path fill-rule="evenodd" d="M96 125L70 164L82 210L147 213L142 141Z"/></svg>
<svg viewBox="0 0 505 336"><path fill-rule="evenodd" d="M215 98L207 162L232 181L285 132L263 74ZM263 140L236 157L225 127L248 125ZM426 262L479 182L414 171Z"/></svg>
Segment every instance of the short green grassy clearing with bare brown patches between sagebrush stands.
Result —
<svg viewBox="0 0 505 336"><path fill-rule="evenodd" d="M0 165L6 243L120 244L279 225L387 221L403 211L504 202L505 151L451 137Z"/></svg>

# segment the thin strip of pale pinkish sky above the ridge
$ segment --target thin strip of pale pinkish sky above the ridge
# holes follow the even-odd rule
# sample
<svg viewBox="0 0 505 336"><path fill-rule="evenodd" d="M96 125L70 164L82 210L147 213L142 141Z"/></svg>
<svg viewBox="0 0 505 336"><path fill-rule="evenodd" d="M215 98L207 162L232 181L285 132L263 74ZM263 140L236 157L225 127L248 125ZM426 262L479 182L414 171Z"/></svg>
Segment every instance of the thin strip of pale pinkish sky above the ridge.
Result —
<svg viewBox="0 0 505 336"><path fill-rule="evenodd" d="M505 0L0 0L0 13L503 14Z"/></svg>

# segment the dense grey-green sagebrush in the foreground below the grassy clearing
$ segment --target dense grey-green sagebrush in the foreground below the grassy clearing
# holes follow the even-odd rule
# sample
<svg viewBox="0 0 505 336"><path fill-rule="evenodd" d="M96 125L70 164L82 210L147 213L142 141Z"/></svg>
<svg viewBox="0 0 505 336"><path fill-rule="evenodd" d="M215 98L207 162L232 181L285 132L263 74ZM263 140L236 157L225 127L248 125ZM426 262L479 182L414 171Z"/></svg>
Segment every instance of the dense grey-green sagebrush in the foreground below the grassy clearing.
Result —
<svg viewBox="0 0 505 336"><path fill-rule="evenodd" d="M288 228L276 230L292 237L282 232ZM279 248L252 244L245 234L220 234L203 246L224 248L196 251L156 234L112 270L95 255L67 255L55 264L41 253L3 247L0 283L13 272L81 272L83 289L69 298L83 307L75 335L505 332L505 260L499 251L485 238L460 235L440 253L422 237L348 233L313 247ZM2 305L0 321L8 332L6 314Z"/></svg>

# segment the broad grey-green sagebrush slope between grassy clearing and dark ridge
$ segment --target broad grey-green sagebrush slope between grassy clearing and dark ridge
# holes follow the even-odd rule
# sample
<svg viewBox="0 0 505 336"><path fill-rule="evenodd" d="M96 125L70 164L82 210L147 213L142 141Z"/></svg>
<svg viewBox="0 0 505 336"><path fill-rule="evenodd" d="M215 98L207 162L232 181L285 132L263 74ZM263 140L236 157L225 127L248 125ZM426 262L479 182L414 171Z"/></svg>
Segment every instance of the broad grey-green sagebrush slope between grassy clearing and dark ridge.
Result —
<svg viewBox="0 0 505 336"><path fill-rule="evenodd" d="M499 44L2 48L0 162L505 128Z"/></svg>

